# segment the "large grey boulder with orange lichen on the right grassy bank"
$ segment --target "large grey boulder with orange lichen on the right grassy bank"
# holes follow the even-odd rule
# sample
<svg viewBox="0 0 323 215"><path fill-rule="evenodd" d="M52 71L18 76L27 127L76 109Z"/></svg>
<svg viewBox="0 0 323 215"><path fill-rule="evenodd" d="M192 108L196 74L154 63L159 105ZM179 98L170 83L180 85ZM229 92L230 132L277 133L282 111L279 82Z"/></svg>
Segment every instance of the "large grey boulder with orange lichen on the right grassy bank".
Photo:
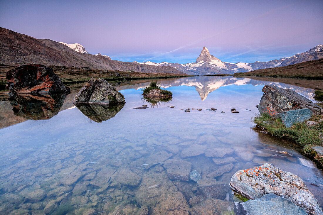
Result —
<svg viewBox="0 0 323 215"><path fill-rule="evenodd" d="M315 115L322 114L321 107L294 90L266 85L262 91L264 95L258 106L260 113L268 113L272 117L277 117L279 113L284 111L308 108Z"/></svg>

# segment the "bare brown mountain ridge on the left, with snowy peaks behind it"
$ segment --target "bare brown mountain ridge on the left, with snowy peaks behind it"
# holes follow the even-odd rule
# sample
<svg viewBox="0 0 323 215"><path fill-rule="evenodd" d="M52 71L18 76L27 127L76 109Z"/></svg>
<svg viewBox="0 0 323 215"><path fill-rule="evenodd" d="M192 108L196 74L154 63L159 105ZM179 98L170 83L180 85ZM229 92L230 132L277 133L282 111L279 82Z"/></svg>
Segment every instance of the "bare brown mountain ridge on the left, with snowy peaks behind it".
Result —
<svg viewBox="0 0 323 215"><path fill-rule="evenodd" d="M50 39L36 39L1 27L0 38L0 64L13 66L44 64L47 66L90 67L111 71L185 74L173 67L122 62L111 60L108 56L101 54L86 54L85 48L79 44L78 46L59 43Z"/></svg>

